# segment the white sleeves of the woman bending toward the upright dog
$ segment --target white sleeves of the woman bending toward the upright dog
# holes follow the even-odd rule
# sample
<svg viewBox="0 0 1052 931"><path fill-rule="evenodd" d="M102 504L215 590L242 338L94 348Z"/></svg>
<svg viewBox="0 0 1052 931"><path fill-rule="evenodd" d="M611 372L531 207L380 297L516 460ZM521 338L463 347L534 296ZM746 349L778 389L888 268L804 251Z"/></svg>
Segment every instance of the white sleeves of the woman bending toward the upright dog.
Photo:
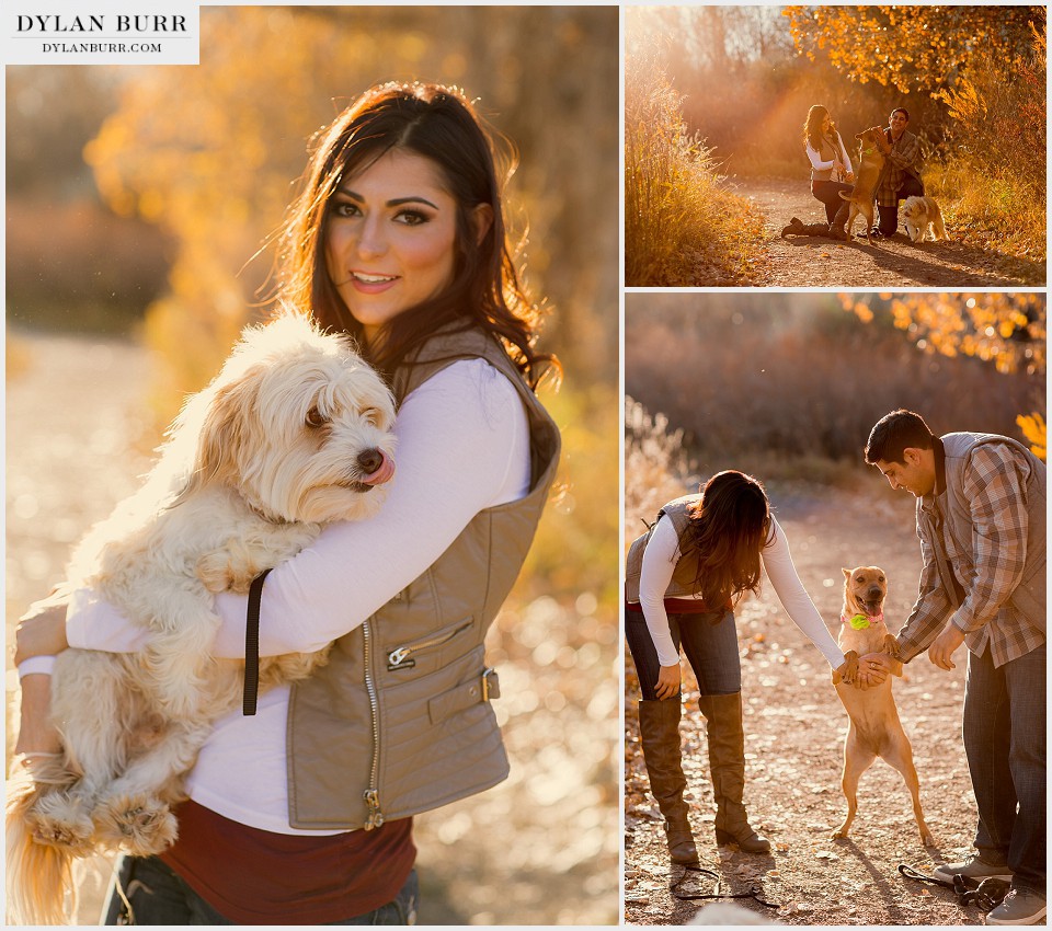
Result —
<svg viewBox="0 0 1052 931"><path fill-rule="evenodd" d="M844 662L844 654L825 627L825 621L814 607L814 602L803 588L797 568L792 564L789 541L786 531L771 517L771 539L761 551L767 577L775 587L789 619L802 630L808 639L822 652L834 669ZM647 629L658 647L658 660L662 666L676 666L679 652L672 640L668 629L668 613L665 611L665 591L672 582L672 574L679 560L679 539L672 520L658 521L654 532L647 541L643 552L643 566L639 578L639 604L647 619ZM700 598L700 593L693 596Z"/></svg>

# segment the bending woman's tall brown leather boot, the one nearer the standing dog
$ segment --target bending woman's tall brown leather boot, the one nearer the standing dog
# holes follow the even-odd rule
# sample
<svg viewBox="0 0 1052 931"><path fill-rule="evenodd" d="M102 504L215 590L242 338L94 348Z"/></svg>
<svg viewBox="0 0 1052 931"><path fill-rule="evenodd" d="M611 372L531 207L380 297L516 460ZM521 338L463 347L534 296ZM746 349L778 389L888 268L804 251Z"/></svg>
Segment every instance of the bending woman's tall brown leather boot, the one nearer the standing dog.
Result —
<svg viewBox="0 0 1052 931"><path fill-rule="evenodd" d="M709 738L709 769L716 795L716 842L736 843L745 853L769 853L770 842L748 825L745 792L745 731L742 693L700 696L698 704Z"/></svg>

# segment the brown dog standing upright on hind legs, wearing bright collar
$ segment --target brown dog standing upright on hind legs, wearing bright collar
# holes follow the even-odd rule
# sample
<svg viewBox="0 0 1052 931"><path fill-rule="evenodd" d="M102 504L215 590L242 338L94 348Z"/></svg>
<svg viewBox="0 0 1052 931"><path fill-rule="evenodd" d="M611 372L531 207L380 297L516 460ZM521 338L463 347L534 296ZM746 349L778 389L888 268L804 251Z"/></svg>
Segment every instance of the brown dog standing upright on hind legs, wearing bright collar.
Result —
<svg viewBox="0 0 1052 931"><path fill-rule="evenodd" d="M895 639L884 625L883 605L888 594L884 571L879 566L859 566L844 571L844 608L841 614L841 635L837 640L845 654L858 656L868 653L897 653ZM902 664L893 660L894 675L902 675ZM847 798L847 817L834 832L834 838L847 837L858 811L858 780L873 760L880 757L902 773L913 796L913 814L921 830L921 840L927 847L935 843L921 811L921 782L913 766L913 748L899 721L899 710L891 693L891 678L879 686L860 689L838 681L834 674L836 693L850 717L844 743L844 777L842 785Z"/></svg>

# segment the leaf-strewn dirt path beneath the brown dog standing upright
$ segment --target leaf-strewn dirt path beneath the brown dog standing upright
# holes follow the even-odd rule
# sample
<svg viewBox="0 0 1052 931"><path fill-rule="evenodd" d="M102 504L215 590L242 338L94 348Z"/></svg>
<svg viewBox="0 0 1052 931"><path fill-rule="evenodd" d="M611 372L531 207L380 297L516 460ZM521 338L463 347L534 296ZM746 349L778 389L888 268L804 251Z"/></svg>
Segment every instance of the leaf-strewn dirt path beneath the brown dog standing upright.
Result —
<svg viewBox="0 0 1052 931"><path fill-rule="evenodd" d="M786 528L793 560L822 616L839 611L841 566L881 565L891 588L889 627L897 629L913 604L919 544L912 498L890 490L872 496L779 494L771 498ZM859 789L859 813L848 840L831 840L843 818L841 765L846 715L828 682L828 667L778 606L769 582L762 597L740 607L745 705L747 788L753 826L771 841L769 857L721 852L713 837L713 805L697 689L686 682L684 762L691 790L691 820L702 866L713 869L724 890L747 892L778 904L741 904L787 924L979 924L981 913L961 908L949 889L903 878L896 867L921 869L970 850L975 807L961 745L964 650L951 673L926 657L906 667L895 696L913 743L925 818L938 847L926 851L910 796L894 770L878 761ZM670 866L656 804L647 793L636 717L638 683L626 663L626 921L684 924L704 903L670 894L683 876ZM684 893L708 893L711 881L688 880Z"/></svg>

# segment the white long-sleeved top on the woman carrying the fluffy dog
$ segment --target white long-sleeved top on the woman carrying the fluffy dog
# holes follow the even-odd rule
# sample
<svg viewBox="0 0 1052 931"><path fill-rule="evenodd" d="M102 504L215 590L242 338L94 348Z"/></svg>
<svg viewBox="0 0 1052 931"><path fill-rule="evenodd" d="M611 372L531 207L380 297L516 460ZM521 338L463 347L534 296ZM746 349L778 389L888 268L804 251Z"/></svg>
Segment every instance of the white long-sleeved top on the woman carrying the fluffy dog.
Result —
<svg viewBox="0 0 1052 931"><path fill-rule="evenodd" d="M423 573L488 507L529 491L529 426L512 383L482 359L454 363L411 392L395 424L397 472L380 513L325 528L275 568L260 611L260 653L312 651L365 621ZM244 656L245 596L221 595L215 652ZM70 602L70 646L132 652L133 627L88 590ZM188 778L191 797L224 817L278 834L288 824L285 722L289 687L260 696L254 717L220 720Z"/></svg>

